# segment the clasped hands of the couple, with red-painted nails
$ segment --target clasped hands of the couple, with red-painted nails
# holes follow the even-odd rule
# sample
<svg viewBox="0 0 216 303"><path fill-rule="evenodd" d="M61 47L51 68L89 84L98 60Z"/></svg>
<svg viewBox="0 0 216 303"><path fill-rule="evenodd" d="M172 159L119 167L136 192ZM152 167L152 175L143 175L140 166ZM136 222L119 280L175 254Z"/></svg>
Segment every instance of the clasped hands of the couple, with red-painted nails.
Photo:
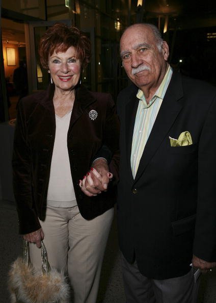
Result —
<svg viewBox="0 0 216 303"><path fill-rule="evenodd" d="M102 191L107 190L112 178L113 174L109 172L106 160L97 159L83 180L79 180L79 186L87 196L96 196Z"/></svg>

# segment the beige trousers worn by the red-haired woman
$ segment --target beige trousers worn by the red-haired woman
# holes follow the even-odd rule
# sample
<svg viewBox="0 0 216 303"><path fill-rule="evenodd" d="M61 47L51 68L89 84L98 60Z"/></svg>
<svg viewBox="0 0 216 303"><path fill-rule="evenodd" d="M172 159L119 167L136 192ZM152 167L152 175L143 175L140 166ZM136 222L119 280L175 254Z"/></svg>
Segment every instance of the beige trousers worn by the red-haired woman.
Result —
<svg viewBox="0 0 216 303"><path fill-rule="evenodd" d="M68 274L74 303L95 303L106 241L114 209L92 219L84 219L77 206L47 207L45 221L40 221L48 261ZM30 243L31 262L41 267L41 250Z"/></svg>

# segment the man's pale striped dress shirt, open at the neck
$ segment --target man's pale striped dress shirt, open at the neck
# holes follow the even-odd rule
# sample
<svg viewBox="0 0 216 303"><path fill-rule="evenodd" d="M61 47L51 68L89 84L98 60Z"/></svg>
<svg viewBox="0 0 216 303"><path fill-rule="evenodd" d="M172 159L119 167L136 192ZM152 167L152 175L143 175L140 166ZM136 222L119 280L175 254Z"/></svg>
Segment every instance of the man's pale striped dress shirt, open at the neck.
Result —
<svg viewBox="0 0 216 303"><path fill-rule="evenodd" d="M161 82L157 91L151 98L149 104L146 103L143 91L141 89L138 90L137 97L140 100L133 129L130 156L130 165L134 179L140 164L140 159L142 157L146 142L151 133L154 121L157 117L157 113L160 109L161 103L163 102L163 98L170 83L172 73L172 68L169 65L163 81Z"/></svg>

